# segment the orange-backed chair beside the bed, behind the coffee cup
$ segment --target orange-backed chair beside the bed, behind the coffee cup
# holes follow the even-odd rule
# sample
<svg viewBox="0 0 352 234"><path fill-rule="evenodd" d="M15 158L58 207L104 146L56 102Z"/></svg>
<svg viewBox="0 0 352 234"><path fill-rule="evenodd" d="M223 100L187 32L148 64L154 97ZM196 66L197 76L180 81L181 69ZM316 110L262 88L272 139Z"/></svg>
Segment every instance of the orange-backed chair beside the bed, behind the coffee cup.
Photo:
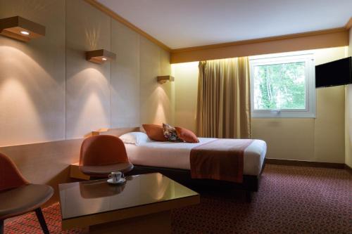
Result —
<svg viewBox="0 0 352 234"><path fill-rule="evenodd" d="M80 171L92 177L107 177L112 171L127 173L133 169L125 144L116 136L86 138L81 145Z"/></svg>

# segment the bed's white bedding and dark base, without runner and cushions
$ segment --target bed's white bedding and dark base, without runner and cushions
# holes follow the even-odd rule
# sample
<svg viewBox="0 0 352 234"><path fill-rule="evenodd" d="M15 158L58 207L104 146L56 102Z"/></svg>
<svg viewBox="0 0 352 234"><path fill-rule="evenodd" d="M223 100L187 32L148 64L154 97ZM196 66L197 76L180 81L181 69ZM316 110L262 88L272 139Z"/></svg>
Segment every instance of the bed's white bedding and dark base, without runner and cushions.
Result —
<svg viewBox="0 0 352 234"><path fill-rule="evenodd" d="M266 143L254 140L244 150L243 182L191 179L190 153L192 148L214 141L216 138L199 138L199 143L146 141L137 145L125 143L127 156L134 164L132 174L160 172L186 186L216 186L245 190L247 200L251 192L258 191L260 174L264 168ZM236 141L235 139L233 141Z"/></svg>

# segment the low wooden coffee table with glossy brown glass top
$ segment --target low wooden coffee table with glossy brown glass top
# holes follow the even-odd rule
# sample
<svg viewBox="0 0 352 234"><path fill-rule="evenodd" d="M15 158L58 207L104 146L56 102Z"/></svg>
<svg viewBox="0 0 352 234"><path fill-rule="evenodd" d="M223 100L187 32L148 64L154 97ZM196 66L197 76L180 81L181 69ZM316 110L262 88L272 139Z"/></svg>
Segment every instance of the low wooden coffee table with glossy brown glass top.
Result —
<svg viewBox="0 0 352 234"><path fill-rule="evenodd" d="M171 210L199 204L199 194L159 173L127 176L115 186L106 179L58 186L62 228L89 233L170 233Z"/></svg>

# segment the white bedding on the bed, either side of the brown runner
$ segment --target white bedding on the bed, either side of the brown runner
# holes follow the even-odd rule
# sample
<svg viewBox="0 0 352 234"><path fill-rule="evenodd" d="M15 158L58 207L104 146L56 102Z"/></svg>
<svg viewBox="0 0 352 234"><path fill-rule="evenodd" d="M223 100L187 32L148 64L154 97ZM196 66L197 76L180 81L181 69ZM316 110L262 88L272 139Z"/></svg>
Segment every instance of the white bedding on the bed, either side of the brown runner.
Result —
<svg viewBox="0 0 352 234"><path fill-rule="evenodd" d="M190 169L191 149L216 138L199 138L199 143L173 143L149 141L140 145L125 144L127 156L133 164L150 167ZM266 143L254 140L244 150L244 174L258 176L263 167Z"/></svg>

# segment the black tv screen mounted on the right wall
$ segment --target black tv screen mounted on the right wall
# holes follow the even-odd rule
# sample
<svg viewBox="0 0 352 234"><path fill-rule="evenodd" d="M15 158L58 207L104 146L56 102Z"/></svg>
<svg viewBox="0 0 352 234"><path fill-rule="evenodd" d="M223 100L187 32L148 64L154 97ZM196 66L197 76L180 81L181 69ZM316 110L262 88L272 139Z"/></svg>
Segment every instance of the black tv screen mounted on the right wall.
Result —
<svg viewBox="0 0 352 234"><path fill-rule="evenodd" d="M352 58L343 58L315 66L315 87L352 83Z"/></svg>

